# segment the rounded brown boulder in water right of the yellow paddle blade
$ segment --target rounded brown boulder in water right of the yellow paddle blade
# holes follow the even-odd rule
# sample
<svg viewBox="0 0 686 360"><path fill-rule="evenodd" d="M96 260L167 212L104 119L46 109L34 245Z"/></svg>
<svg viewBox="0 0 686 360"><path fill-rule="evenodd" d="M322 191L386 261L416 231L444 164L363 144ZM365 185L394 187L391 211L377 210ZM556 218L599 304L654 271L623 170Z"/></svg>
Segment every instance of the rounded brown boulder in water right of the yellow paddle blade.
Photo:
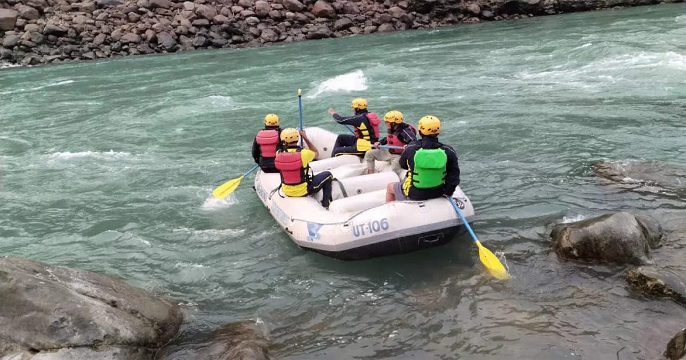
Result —
<svg viewBox="0 0 686 360"><path fill-rule="evenodd" d="M563 259L642 265L648 261L648 249L663 237L656 223L652 217L615 213L558 224L550 236L553 250Z"/></svg>

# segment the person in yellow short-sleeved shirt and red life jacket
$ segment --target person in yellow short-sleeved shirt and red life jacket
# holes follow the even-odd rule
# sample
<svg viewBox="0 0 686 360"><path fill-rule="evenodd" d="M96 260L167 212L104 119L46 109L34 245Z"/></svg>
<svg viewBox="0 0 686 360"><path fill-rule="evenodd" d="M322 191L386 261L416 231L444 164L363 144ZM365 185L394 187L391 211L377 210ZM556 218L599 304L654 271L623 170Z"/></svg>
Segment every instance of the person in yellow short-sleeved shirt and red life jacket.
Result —
<svg viewBox="0 0 686 360"><path fill-rule="evenodd" d="M300 136L309 149L298 146ZM331 204L331 181L333 176L329 171L322 171L315 176L309 176L309 163L319 156L317 148L307 139L305 131L294 128L283 129L281 141L285 149L276 152L274 164L281 172L281 190L286 196L303 197L322 191L324 195L322 206L329 210Z"/></svg>

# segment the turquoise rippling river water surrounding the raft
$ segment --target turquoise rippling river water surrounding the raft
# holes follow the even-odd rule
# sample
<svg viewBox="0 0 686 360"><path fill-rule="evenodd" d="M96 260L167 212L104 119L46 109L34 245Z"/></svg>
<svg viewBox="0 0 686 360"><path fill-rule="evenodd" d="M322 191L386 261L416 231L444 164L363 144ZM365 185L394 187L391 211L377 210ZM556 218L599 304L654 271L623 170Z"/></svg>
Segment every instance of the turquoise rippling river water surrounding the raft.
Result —
<svg viewBox="0 0 686 360"><path fill-rule="evenodd" d="M275 359L655 359L686 315L626 289L622 267L559 261L549 225L678 217L683 202L608 186L598 160L686 163L686 5L0 70L0 253L125 278L182 304L180 344L256 319ZM268 112L443 120L469 237L343 262L296 247L246 178ZM624 348L624 349L622 349Z"/></svg>

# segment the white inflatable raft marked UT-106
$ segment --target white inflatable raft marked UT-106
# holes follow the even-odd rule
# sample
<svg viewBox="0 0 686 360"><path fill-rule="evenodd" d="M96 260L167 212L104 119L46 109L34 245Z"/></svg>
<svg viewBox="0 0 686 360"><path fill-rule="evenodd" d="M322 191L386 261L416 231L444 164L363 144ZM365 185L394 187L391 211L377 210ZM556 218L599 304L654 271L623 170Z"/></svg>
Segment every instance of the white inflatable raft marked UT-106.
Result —
<svg viewBox="0 0 686 360"><path fill-rule="evenodd" d="M272 217L293 241L307 250L344 260L411 252L442 245L464 232L460 217L448 200L386 203L386 185L399 176L390 164L377 162L377 173L366 174L359 156L331 158L337 134L321 128L305 129L319 150L319 160L310 163L314 173L331 171L333 202L327 211L314 196L287 197L279 189L279 173L255 176L255 191ZM404 172L401 174L404 177ZM453 198L469 221L474 208L458 187Z"/></svg>

